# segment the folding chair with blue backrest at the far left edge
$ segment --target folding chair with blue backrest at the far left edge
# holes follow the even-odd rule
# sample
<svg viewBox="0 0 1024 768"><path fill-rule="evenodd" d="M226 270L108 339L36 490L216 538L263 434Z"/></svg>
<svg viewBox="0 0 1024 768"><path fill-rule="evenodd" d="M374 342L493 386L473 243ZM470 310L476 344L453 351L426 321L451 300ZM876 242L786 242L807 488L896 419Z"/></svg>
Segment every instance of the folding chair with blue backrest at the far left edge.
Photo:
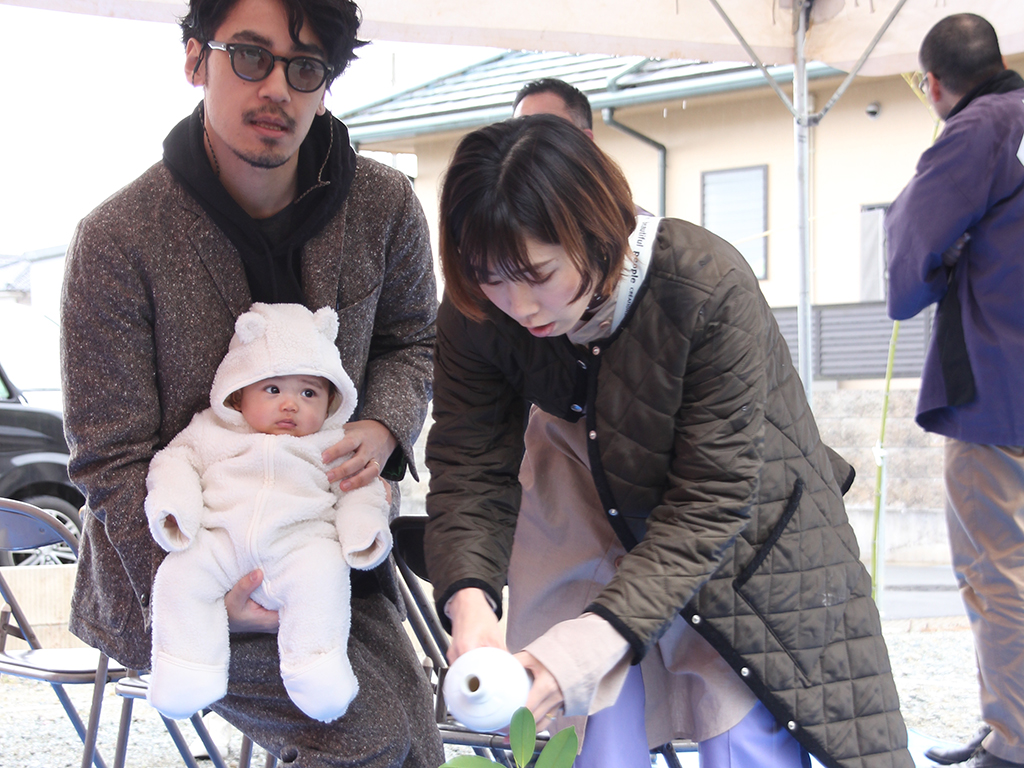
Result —
<svg viewBox="0 0 1024 768"><path fill-rule="evenodd" d="M0 550L20 552L54 544L67 544L77 557L78 539L55 517L25 502L0 499ZM103 688L106 683L124 677L127 671L92 648L43 648L2 573L0 595L4 600L0 609L0 675L49 683L82 739L82 768L93 764L95 768L105 768L96 751ZM7 650L8 637L24 640L29 649ZM82 718L63 689L65 685L76 684L92 684L88 725L82 724Z"/></svg>

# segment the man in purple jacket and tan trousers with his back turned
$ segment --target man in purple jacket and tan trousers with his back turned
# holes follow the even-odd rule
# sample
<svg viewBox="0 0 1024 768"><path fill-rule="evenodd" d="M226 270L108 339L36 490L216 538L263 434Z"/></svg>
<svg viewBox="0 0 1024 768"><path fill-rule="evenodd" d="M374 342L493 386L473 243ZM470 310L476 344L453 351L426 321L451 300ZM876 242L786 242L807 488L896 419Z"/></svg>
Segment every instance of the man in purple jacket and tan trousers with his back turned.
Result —
<svg viewBox="0 0 1024 768"><path fill-rule="evenodd" d="M1024 79L992 26L939 22L919 55L946 121L886 216L889 314L938 302L918 423L945 435L946 520L984 726L929 757L1024 765Z"/></svg>

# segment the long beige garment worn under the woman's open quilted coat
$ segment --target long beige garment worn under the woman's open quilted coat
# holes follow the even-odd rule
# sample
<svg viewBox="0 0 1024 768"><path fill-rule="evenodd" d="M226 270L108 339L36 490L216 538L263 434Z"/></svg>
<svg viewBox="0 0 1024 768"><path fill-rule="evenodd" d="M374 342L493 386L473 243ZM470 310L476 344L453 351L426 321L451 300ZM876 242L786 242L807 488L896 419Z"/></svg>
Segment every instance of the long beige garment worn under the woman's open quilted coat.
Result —
<svg viewBox="0 0 1024 768"><path fill-rule="evenodd" d="M522 507L509 566L510 650L520 650L553 625L579 616L626 554L604 516L586 442L584 420L570 424L532 410L519 475ZM564 644L564 636L559 642ZM593 636L579 637L572 645L579 649L572 667L586 668L593 643ZM593 655L602 657L598 652ZM738 723L757 701L725 659L681 616L643 659L641 670L651 746L673 738L702 741L716 736ZM579 669L551 672L563 694L565 686L593 686L605 673L625 678L622 669L599 669L591 675L581 675ZM617 695L617 687L615 691ZM552 732L575 725L582 735L585 722L586 718L559 718Z"/></svg>

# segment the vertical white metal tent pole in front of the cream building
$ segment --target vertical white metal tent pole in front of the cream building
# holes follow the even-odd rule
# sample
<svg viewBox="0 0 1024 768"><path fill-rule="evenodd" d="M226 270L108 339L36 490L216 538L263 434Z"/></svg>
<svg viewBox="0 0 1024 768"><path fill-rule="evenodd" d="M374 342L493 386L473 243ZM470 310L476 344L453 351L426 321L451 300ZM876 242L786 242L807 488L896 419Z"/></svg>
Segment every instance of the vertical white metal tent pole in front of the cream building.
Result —
<svg viewBox="0 0 1024 768"><path fill-rule="evenodd" d="M811 353L811 236L810 236L810 115L807 90L807 57L804 43L811 14L811 3L795 0L797 34L794 41L793 103L794 138L797 156L797 252L800 264L800 296L797 302L798 371L807 394L807 404L813 409L812 380L814 360Z"/></svg>

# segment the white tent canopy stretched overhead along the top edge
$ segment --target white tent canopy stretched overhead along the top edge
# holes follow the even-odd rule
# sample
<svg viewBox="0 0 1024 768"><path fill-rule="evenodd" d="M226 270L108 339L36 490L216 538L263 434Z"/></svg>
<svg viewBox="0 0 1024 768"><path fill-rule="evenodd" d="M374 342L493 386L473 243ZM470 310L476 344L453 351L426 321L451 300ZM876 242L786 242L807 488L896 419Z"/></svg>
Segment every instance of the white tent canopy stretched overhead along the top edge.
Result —
<svg viewBox="0 0 1024 768"><path fill-rule="evenodd" d="M0 0L49 10L173 22L178 0ZM808 60L848 71L898 0L815 0ZM793 63L793 0L720 0L762 61ZM658 58L746 60L709 0L362 0L362 37L399 42ZM971 11L995 26L1004 52L1024 50L1021 0L907 0L861 74L916 69L921 39L939 18Z"/></svg>

